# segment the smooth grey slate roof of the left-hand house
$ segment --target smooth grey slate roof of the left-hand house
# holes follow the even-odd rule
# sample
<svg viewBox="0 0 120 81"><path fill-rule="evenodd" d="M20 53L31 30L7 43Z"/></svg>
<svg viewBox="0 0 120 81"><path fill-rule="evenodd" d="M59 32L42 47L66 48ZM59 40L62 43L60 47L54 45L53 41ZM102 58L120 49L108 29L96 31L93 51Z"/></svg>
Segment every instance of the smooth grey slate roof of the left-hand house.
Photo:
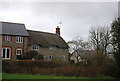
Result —
<svg viewBox="0 0 120 81"><path fill-rule="evenodd" d="M2 35L29 36L24 24L0 22L0 29Z"/></svg>

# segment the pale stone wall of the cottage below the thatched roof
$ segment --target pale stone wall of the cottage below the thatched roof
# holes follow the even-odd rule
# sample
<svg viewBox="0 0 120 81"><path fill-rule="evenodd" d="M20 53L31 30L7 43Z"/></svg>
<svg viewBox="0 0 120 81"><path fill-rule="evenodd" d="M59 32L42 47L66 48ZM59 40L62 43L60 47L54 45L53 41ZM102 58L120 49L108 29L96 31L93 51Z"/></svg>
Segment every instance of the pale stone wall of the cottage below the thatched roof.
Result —
<svg viewBox="0 0 120 81"><path fill-rule="evenodd" d="M29 46L29 50L31 50L31 46ZM68 62L68 49L39 47L37 51L44 56L44 60L60 59L61 61Z"/></svg>

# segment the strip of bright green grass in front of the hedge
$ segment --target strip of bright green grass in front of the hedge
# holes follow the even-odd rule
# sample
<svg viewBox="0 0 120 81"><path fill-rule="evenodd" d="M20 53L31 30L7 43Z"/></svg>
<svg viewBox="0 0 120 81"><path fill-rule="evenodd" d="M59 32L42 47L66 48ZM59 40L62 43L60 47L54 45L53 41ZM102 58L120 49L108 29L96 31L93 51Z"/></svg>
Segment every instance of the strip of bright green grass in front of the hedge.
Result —
<svg viewBox="0 0 120 81"><path fill-rule="evenodd" d="M10 79L24 79L25 81L27 79L29 80L40 80L40 79L46 79L48 81L50 81L50 79L53 80L61 80L61 81L75 81L75 80L79 80L79 81L115 81L116 79L112 78L112 77L108 77L108 76L104 76L104 77L96 77L96 78L88 78L88 77L68 77L68 76L53 76L53 75L30 75L30 74L8 74L8 73L3 73L2 74L2 78L4 79L3 81L7 80L9 81ZM12 80L13 81L13 80ZM23 80L22 80L23 81Z"/></svg>

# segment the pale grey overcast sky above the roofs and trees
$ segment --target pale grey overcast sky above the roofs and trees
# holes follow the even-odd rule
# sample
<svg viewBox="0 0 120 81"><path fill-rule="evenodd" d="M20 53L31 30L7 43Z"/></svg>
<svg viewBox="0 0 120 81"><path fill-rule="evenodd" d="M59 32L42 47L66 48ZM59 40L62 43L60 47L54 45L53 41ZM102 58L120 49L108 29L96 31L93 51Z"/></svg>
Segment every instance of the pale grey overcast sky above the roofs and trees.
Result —
<svg viewBox="0 0 120 81"><path fill-rule="evenodd" d="M91 26L110 26L117 15L117 2L0 2L0 21L51 33L62 22L61 36L66 41L87 38Z"/></svg>

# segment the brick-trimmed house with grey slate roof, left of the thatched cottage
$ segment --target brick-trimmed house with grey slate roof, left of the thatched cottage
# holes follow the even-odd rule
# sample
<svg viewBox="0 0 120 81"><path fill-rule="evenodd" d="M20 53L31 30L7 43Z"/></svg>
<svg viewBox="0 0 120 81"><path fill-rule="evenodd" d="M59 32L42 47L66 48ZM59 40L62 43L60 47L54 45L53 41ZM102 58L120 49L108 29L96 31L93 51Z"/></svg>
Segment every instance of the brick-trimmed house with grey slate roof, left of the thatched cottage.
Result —
<svg viewBox="0 0 120 81"><path fill-rule="evenodd" d="M0 55L2 59L13 60L28 50L29 34L24 24L0 22Z"/></svg>

